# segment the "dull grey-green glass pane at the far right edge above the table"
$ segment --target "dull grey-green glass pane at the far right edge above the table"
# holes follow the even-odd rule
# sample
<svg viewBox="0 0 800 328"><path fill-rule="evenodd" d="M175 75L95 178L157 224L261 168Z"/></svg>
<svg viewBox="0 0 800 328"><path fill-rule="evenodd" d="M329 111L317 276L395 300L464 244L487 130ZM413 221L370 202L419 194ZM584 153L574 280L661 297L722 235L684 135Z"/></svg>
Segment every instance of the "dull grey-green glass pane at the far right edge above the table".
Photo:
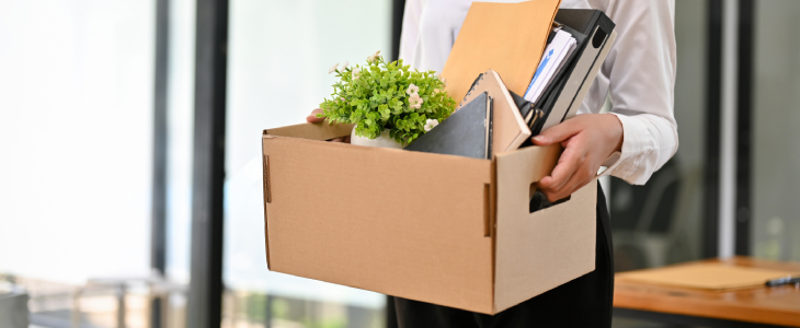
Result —
<svg viewBox="0 0 800 328"><path fill-rule="evenodd" d="M800 2L757 1L754 15L753 190L736 214L752 220L753 256L800 261Z"/></svg>

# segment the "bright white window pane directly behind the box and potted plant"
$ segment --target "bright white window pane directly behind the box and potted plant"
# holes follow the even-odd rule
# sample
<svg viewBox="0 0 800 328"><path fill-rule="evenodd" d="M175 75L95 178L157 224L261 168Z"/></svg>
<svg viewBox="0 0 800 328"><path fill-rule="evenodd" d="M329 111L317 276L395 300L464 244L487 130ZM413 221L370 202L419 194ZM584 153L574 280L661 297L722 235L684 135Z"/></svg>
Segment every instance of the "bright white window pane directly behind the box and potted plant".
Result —
<svg viewBox="0 0 800 328"><path fill-rule="evenodd" d="M389 56L391 7L389 0L231 1L224 259L228 288L382 308L380 294L266 269L260 136L266 128L305 122L333 91L335 78L328 74L332 65L363 65L376 50Z"/></svg>

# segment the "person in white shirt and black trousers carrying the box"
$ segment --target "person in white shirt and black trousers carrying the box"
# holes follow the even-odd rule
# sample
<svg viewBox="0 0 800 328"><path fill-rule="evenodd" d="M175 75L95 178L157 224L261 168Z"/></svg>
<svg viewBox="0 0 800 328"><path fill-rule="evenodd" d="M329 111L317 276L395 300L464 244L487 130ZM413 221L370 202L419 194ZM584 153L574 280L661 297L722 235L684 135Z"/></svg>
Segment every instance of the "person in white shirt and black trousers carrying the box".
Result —
<svg viewBox="0 0 800 328"><path fill-rule="evenodd" d="M471 2L407 0L400 58L441 72ZM594 179L601 166L608 167L603 175L642 185L677 150L674 1L562 0L561 8L602 10L617 24L617 39L579 115L533 138L564 148L538 186L555 201ZM612 113L597 114L606 95ZM399 326L610 327L614 262L608 210L598 191L595 271L494 316L397 297Z"/></svg>

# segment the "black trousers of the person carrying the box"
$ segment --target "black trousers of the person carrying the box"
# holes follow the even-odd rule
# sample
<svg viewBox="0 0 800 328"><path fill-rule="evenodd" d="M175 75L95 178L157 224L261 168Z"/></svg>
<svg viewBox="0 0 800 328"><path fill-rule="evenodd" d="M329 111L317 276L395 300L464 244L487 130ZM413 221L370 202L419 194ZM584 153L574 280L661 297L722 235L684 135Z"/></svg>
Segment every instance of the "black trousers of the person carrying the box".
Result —
<svg viewBox="0 0 800 328"><path fill-rule="evenodd" d="M610 327L614 297L614 253L606 198L597 184L595 270L496 315L390 298L398 327ZM392 327L390 323L388 326Z"/></svg>

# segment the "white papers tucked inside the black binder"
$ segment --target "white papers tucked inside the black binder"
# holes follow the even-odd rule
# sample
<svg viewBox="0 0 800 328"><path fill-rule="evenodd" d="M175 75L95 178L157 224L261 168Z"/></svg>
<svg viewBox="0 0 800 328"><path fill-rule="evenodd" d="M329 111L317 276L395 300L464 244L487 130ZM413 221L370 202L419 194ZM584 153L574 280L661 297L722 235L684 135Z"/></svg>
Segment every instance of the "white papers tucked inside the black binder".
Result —
<svg viewBox="0 0 800 328"><path fill-rule="evenodd" d="M570 58L572 51L575 50L578 42L572 35L556 28L556 37L545 48L545 55L539 62L539 67L534 73L534 79L530 80L527 91L525 92L525 99L532 103L536 103L541 97L541 93L552 82L556 74L561 70L564 63Z"/></svg>

